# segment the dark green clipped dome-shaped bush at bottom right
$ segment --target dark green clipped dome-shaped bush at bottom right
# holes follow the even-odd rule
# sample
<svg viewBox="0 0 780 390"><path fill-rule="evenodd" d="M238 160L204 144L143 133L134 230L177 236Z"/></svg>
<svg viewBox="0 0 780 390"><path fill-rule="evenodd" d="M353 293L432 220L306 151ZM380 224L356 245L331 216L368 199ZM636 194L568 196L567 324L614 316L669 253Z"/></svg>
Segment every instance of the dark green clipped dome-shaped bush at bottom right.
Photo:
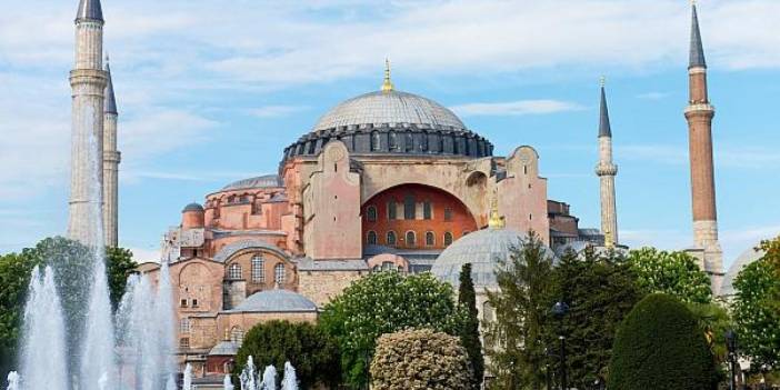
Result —
<svg viewBox="0 0 780 390"><path fill-rule="evenodd" d="M717 376L707 339L678 300L650 294L629 312L614 339L610 390L712 390Z"/></svg>

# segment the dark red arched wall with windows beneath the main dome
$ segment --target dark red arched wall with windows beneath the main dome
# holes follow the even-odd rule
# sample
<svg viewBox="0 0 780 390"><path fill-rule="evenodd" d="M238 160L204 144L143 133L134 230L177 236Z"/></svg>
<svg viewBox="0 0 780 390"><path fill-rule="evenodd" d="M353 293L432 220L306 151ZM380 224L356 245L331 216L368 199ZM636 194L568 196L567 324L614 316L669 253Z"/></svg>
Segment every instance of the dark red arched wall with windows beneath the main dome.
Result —
<svg viewBox="0 0 780 390"><path fill-rule="evenodd" d="M418 203L416 207L417 218L413 220L404 219L403 214L404 199L409 193L414 196L414 201ZM391 201L398 203L396 208L397 219L394 220L388 219L388 203ZM432 206L430 220L423 219L422 207L419 206L419 203L424 201L430 201ZM367 210L369 207L377 208L376 221L368 220ZM452 210L452 219L449 221L444 220L444 209L447 208ZM477 230L477 222L473 216L460 200L444 191L421 184L403 184L380 192L362 206L361 218L363 243L368 242L369 231L374 231L377 233L377 243L388 246L387 233L392 230L397 237L394 247L402 249L443 249L446 232L451 232L454 241L463 237L464 232ZM406 233L410 230L414 231L417 236L414 246L409 246L406 241ZM426 244L426 232L428 231L434 233L436 242L433 246Z"/></svg>

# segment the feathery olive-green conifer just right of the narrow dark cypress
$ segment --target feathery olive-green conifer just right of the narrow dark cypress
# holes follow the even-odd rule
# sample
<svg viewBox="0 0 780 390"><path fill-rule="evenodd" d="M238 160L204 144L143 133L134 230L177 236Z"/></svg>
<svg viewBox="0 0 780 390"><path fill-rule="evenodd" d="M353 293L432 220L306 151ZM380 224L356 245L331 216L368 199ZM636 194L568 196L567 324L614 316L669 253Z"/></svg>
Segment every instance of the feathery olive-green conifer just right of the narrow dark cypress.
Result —
<svg viewBox="0 0 780 390"><path fill-rule="evenodd" d="M499 259L499 291L488 291L496 321L487 327L486 349L496 389L540 389L544 382L544 327L550 322L552 257L539 237L529 232Z"/></svg>

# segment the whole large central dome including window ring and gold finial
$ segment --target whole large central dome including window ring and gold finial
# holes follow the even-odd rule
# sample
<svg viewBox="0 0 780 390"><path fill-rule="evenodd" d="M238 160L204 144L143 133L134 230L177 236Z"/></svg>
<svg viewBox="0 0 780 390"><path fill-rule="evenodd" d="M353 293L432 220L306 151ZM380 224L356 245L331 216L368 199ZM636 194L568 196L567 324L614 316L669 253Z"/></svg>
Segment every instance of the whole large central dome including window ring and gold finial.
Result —
<svg viewBox="0 0 780 390"><path fill-rule="evenodd" d="M493 156L490 141L467 129L452 111L433 100L397 91L389 69L380 91L346 100L328 111L311 132L284 149L284 160L316 157L330 141L341 141L350 153L363 156Z"/></svg>

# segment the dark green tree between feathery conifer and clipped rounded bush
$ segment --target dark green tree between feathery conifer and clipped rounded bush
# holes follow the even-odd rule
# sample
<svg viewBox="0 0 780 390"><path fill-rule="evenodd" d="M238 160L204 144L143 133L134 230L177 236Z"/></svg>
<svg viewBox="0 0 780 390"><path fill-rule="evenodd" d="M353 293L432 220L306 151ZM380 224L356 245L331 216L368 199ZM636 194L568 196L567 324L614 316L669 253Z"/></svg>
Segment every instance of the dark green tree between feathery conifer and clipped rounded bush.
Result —
<svg viewBox="0 0 780 390"><path fill-rule="evenodd" d="M563 321L569 383L587 389L607 378L614 334L644 292L620 252L591 248L581 256L563 253L554 269L554 286L553 297L569 304ZM554 340L558 329L548 327L548 332L552 334L546 339Z"/></svg>

